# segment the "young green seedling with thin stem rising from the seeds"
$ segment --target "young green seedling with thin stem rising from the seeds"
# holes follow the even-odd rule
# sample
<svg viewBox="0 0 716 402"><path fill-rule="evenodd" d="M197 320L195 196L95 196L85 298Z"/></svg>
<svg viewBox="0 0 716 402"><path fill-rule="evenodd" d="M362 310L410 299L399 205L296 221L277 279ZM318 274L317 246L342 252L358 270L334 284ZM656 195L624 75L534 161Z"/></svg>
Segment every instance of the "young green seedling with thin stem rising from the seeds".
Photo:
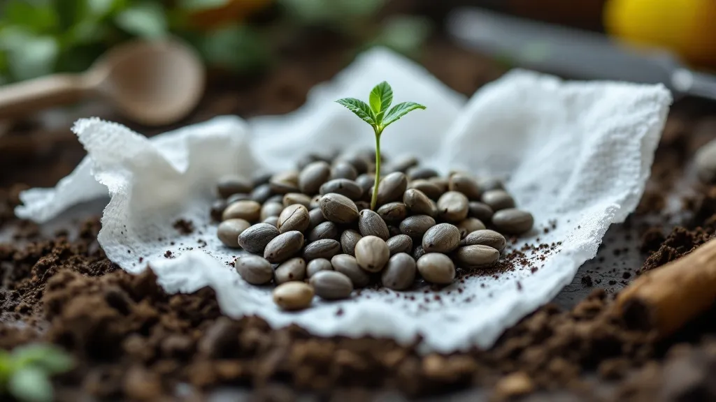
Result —
<svg viewBox="0 0 716 402"><path fill-rule="evenodd" d="M387 82L377 84L370 92L367 104L362 100L355 98L338 99L336 102L360 117L364 122L373 127L375 133L375 184L373 185L373 195L370 199L370 209L375 210L378 200L378 183L380 180L380 135L385 127L405 116L415 109L425 109L422 104L415 102L402 102L391 107L393 102L393 90Z"/></svg>

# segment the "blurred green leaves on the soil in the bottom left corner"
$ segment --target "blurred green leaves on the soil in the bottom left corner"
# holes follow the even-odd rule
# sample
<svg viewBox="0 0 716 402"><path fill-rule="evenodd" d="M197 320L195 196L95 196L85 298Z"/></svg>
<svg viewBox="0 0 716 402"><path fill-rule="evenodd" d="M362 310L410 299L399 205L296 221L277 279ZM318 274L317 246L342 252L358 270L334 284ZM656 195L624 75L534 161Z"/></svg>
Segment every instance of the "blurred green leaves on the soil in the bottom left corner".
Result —
<svg viewBox="0 0 716 402"><path fill-rule="evenodd" d="M72 358L53 345L26 345L0 350L0 395L21 402L52 402L50 377L69 371Z"/></svg>

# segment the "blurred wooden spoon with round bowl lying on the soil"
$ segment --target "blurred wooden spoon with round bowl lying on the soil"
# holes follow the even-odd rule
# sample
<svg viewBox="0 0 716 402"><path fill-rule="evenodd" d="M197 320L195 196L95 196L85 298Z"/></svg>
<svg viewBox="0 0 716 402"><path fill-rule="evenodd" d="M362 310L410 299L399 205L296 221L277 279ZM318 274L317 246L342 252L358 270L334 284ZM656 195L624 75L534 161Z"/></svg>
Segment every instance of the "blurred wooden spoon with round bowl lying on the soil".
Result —
<svg viewBox="0 0 716 402"><path fill-rule="evenodd" d="M180 41L127 42L82 74L55 74L0 87L0 118L105 97L135 122L170 124L198 104L204 74L197 54Z"/></svg>

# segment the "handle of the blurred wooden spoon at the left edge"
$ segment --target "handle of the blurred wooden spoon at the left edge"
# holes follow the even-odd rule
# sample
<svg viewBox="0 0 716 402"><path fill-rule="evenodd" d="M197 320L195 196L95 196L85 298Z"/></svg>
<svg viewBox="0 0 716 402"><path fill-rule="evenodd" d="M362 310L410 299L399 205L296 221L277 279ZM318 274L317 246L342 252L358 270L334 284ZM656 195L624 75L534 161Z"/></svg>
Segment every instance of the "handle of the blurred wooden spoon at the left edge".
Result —
<svg viewBox="0 0 716 402"><path fill-rule="evenodd" d="M88 88L82 76L57 74L0 87L0 118L19 117L47 107L77 102Z"/></svg>

